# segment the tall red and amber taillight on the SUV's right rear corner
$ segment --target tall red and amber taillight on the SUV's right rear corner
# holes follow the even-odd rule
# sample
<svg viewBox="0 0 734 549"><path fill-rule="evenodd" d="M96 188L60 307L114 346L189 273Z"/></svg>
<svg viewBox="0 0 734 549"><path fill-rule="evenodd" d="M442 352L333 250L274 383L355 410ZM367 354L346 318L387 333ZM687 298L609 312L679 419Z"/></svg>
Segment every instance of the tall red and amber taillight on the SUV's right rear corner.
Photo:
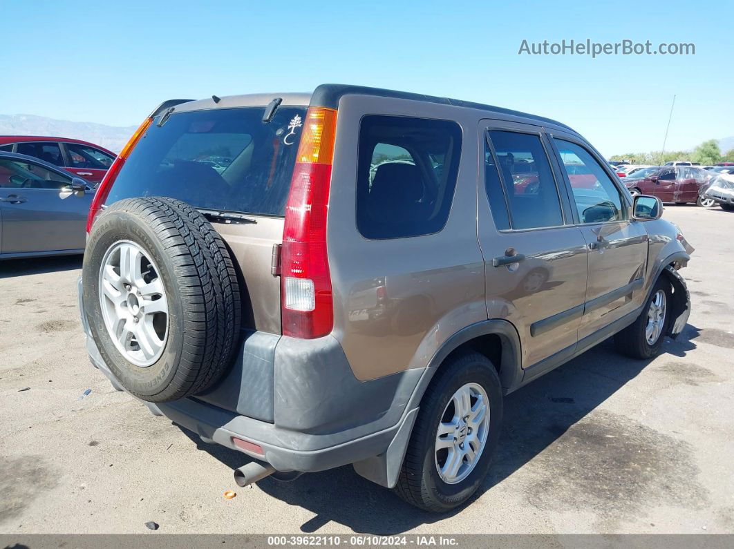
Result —
<svg viewBox="0 0 734 549"><path fill-rule="evenodd" d="M309 108L303 128L283 226L281 314L283 335L313 339L334 325L326 223L336 111Z"/></svg>

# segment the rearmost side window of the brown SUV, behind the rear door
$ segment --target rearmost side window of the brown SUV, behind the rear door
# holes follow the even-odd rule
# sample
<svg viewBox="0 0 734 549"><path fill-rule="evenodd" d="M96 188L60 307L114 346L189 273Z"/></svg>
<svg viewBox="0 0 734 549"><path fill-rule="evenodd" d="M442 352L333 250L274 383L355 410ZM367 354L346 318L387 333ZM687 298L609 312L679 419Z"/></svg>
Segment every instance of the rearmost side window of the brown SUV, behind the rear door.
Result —
<svg viewBox="0 0 734 549"><path fill-rule="evenodd" d="M363 117L357 229L375 239L439 232L451 210L460 155L461 128L455 122Z"/></svg>

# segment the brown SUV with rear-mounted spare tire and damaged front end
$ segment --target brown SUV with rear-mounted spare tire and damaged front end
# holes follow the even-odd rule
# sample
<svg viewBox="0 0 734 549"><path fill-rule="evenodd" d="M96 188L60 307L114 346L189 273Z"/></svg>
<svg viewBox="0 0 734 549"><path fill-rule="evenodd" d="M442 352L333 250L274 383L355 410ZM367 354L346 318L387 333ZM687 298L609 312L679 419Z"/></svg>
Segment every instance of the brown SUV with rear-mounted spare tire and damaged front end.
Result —
<svg viewBox="0 0 734 549"><path fill-rule="evenodd" d="M505 394L609 336L650 358L680 333L692 248L661 213L571 128L504 108L172 100L92 204L87 348L245 454L241 486L351 463L446 511L487 474Z"/></svg>

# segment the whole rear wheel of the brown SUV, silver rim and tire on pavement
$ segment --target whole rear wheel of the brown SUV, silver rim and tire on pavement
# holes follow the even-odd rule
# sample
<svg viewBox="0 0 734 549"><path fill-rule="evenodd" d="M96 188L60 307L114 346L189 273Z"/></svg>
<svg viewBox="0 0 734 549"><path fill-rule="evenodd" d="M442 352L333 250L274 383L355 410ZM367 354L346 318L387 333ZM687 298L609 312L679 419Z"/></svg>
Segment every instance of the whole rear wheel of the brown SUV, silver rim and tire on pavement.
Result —
<svg viewBox="0 0 734 549"><path fill-rule="evenodd" d="M396 493L432 512L465 503L487 476L501 422L493 364L473 352L449 357L421 402Z"/></svg>

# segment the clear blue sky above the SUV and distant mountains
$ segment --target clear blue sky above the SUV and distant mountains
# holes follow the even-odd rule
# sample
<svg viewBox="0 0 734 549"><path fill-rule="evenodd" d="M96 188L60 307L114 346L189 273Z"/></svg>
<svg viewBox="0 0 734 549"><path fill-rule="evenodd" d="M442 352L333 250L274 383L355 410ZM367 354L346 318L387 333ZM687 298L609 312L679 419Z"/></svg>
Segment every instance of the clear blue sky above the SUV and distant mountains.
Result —
<svg viewBox="0 0 734 549"><path fill-rule="evenodd" d="M155 4L155 5L153 5ZM727 1L0 0L0 114L137 125L161 100L324 82L558 119L604 154L734 136ZM527 56L528 42L694 43L694 56ZM10 54L10 55L7 55Z"/></svg>

